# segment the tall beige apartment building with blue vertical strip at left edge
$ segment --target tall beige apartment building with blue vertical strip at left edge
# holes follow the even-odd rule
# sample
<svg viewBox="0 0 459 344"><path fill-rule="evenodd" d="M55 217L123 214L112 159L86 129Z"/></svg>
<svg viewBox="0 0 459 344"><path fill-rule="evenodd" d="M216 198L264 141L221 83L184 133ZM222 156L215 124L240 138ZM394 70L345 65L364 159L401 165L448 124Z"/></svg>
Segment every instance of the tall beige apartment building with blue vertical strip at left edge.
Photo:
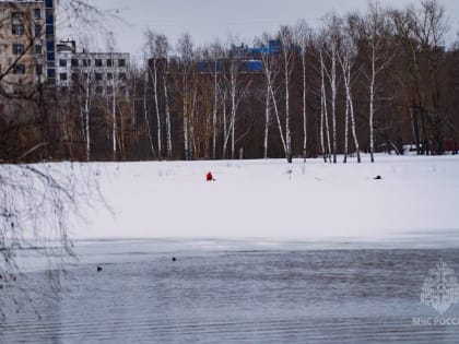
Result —
<svg viewBox="0 0 459 344"><path fill-rule="evenodd" d="M0 0L0 87L56 83L55 0Z"/></svg>

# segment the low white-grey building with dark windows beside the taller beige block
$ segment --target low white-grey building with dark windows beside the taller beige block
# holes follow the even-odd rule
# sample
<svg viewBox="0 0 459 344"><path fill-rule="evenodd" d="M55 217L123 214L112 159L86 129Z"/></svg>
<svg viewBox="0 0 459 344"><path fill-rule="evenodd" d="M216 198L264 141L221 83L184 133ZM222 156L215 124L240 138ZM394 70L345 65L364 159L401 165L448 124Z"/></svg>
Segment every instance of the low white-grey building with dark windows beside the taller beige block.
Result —
<svg viewBox="0 0 459 344"><path fill-rule="evenodd" d="M57 45L56 82L61 90L91 86L97 95L127 92L128 52L76 52L74 41Z"/></svg>

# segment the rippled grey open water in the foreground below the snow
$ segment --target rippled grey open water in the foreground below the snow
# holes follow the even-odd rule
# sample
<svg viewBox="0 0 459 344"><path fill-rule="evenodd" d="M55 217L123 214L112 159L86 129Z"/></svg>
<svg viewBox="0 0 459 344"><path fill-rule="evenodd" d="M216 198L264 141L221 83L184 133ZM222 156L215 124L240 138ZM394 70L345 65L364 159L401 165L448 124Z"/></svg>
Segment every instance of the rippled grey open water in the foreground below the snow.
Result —
<svg viewBox="0 0 459 344"><path fill-rule="evenodd" d="M0 293L0 343L459 343L459 304L443 315L421 304L440 260L459 276L454 246L106 240L76 251L59 297L25 258L32 303Z"/></svg>

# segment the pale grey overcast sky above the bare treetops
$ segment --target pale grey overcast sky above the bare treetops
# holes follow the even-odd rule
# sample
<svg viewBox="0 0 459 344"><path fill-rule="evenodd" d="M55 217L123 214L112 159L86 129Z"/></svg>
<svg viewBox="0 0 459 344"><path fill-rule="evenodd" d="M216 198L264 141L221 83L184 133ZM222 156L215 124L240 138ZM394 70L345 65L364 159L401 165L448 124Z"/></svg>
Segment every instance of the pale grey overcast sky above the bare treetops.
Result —
<svg viewBox="0 0 459 344"><path fill-rule="evenodd" d="M380 0L382 7L401 8L417 0ZM305 19L317 27L320 19L330 11L339 15L351 10L365 12L367 0L93 0L104 11L123 21L109 21L117 50L142 55L143 32L150 27L165 34L173 45L188 31L195 44L226 41L229 34L250 45L262 32L275 32L281 24L295 24ZM450 24L448 40L452 41L459 29L459 0L443 0ZM99 36L102 31L92 33ZM62 37L64 38L64 37ZM101 39L101 38L99 38ZM99 44L101 45L101 44ZM103 44L102 44L103 46ZM102 47L102 49L104 49Z"/></svg>

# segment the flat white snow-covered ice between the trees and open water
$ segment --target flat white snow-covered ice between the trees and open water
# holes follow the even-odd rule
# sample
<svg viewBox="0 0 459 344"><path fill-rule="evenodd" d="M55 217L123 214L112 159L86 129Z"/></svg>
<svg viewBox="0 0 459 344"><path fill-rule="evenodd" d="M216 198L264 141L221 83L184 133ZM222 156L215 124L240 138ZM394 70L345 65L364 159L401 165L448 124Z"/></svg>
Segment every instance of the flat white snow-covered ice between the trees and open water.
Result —
<svg viewBox="0 0 459 344"><path fill-rule="evenodd" d="M459 233L459 156L97 163L105 200L74 238L375 239ZM215 181L207 182L212 171ZM291 170L291 173L289 173ZM381 180L374 177L381 176Z"/></svg>

